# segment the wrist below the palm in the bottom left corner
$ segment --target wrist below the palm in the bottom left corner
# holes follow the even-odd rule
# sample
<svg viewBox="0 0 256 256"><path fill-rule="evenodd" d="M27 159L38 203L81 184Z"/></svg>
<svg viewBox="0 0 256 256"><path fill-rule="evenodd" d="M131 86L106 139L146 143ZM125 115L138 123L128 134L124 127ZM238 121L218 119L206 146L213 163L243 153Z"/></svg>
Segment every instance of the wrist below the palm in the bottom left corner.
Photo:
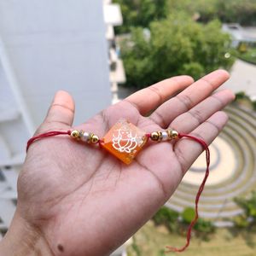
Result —
<svg viewBox="0 0 256 256"><path fill-rule="evenodd" d="M0 255L53 256L54 254L40 230L20 217L16 211L8 232L0 242Z"/></svg>

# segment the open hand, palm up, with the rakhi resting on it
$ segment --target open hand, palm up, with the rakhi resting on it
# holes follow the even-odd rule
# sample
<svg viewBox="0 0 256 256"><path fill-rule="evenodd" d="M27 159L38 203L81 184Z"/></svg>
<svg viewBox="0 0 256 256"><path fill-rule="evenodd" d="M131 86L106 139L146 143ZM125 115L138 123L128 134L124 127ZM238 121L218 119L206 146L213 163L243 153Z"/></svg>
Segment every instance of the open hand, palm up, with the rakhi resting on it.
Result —
<svg viewBox="0 0 256 256"><path fill-rule="evenodd" d="M230 90L212 91L228 78L219 70L195 83L188 76L166 79L74 128L103 137L125 118L145 132L170 126L212 143L228 119L220 110L234 99ZM37 133L67 131L73 116L72 97L60 91ZM33 143L18 180L15 218L0 253L12 247L11 255L108 255L170 198L201 151L188 139L175 145L152 143L125 166L104 149L69 137Z"/></svg>

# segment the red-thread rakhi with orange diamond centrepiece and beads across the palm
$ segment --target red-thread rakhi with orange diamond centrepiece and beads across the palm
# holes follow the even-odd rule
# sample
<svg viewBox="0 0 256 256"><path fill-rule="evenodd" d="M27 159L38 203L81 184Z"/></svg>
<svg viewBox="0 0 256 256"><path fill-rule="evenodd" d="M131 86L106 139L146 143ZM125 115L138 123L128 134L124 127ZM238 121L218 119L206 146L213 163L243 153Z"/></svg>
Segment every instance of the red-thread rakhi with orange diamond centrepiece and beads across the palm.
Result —
<svg viewBox="0 0 256 256"><path fill-rule="evenodd" d="M206 151L207 169L205 177L203 178L201 186L195 197L195 218L189 224L186 244L181 248L166 247L168 249L166 253L183 252L187 247L189 247L191 230L193 229L197 219L199 218L198 202L204 189L205 183L207 182L207 177L209 175L210 150L204 140L188 134L178 133L177 131L172 129L167 129L166 131L153 131L151 133L145 133L137 126L132 125L129 121L125 119L120 119L115 125L113 125L113 127L102 139L100 139L96 134L92 132L87 132L83 130L48 131L29 139L26 145L26 151L31 146L31 144L38 139L42 139L45 137L54 137L58 135L68 135L73 139L84 143L99 144L102 148L107 149L109 153L113 154L119 160L122 160L126 165L131 164L132 160L142 150L143 146L148 142L148 140L160 143L173 141L185 137L192 139L197 143L200 143Z"/></svg>

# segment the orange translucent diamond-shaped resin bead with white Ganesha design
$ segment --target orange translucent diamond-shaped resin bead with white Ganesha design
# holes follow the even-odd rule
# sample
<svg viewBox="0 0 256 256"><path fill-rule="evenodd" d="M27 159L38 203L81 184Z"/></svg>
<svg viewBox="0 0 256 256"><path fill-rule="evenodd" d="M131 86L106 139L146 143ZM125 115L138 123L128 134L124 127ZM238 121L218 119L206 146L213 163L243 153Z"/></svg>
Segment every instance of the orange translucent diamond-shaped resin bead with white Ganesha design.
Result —
<svg viewBox="0 0 256 256"><path fill-rule="evenodd" d="M102 138L101 144L108 152L129 165L147 141L144 131L121 119Z"/></svg>

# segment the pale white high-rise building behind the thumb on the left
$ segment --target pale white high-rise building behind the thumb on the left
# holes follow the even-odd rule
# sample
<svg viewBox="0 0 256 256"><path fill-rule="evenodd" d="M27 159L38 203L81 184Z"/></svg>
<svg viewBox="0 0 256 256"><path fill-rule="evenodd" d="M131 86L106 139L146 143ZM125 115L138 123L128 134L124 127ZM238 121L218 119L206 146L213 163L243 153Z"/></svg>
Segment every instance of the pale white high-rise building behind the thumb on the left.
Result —
<svg viewBox="0 0 256 256"><path fill-rule="evenodd" d="M113 26L121 23L111 1L0 1L0 230L8 229L15 211L26 141L55 91L73 95L75 124L111 104L120 72L110 73L109 66L122 66Z"/></svg>

